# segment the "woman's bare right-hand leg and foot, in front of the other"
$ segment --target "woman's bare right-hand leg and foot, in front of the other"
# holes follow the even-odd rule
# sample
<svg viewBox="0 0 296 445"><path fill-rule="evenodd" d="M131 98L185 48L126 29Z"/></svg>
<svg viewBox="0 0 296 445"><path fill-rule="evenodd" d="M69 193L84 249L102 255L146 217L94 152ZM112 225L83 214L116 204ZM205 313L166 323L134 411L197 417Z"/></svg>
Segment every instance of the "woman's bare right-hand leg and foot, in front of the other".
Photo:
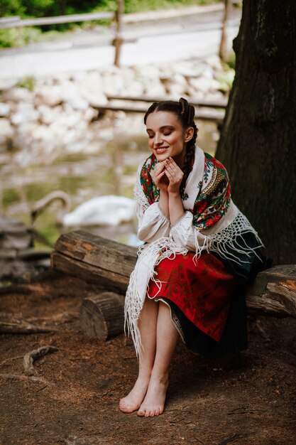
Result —
<svg viewBox="0 0 296 445"><path fill-rule="evenodd" d="M156 329L156 353L148 385L138 416L153 417L163 413L168 388L168 368L172 360L179 333L170 318L170 308L159 304Z"/></svg>

